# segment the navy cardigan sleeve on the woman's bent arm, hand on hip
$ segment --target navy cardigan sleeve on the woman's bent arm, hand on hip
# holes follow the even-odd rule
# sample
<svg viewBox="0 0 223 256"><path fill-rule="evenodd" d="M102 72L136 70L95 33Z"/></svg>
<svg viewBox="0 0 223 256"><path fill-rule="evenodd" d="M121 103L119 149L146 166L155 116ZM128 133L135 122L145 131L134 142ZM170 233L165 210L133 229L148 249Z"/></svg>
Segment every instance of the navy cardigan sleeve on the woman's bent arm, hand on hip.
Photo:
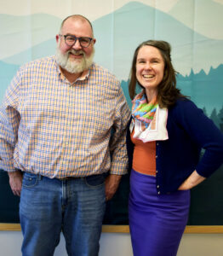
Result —
<svg viewBox="0 0 223 256"><path fill-rule="evenodd" d="M203 177L209 177L223 163L223 134L193 102L179 100L177 108L178 122L192 140L204 149L196 171Z"/></svg>

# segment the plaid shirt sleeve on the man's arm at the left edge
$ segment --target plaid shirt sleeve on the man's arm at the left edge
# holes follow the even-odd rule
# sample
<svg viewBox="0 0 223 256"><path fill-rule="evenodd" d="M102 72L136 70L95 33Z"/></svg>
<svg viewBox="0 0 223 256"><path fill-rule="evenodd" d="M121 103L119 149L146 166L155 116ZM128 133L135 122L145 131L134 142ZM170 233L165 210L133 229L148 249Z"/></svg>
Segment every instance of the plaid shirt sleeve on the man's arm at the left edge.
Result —
<svg viewBox="0 0 223 256"><path fill-rule="evenodd" d="M0 168L7 172L14 172L14 147L18 140L20 113L19 104L20 73L12 80L6 91L0 108Z"/></svg>

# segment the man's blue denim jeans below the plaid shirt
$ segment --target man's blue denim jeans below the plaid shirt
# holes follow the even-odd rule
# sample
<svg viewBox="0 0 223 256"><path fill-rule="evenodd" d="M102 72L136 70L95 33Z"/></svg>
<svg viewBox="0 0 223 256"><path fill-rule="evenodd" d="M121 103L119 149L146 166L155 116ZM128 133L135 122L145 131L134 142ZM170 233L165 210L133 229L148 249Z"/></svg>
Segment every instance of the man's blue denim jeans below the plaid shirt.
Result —
<svg viewBox="0 0 223 256"><path fill-rule="evenodd" d="M104 175L61 181L25 172L20 195L22 255L54 255L60 231L68 255L98 255L105 209Z"/></svg>

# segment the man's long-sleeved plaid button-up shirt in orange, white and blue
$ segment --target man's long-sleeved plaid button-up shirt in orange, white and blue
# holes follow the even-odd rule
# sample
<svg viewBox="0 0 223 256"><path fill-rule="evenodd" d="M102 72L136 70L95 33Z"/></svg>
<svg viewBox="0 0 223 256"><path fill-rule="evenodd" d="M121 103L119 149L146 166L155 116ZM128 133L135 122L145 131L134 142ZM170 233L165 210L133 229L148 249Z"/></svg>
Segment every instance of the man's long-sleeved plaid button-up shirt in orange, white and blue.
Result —
<svg viewBox="0 0 223 256"><path fill-rule="evenodd" d="M70 84L54 56L32 61L0 109L0 168L59 178L124 174L129 117L120 83L102 67Z"/></svg>

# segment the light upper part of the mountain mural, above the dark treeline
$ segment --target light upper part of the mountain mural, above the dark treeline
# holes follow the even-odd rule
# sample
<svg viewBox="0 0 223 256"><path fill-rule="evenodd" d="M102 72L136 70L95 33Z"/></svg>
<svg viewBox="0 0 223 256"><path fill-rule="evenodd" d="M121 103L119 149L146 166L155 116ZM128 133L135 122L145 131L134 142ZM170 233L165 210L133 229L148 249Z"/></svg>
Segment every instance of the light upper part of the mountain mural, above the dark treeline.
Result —
<svg viewBox="0 0 223 256"><path fill-rule="evenodd" d="M43 2L42 0L40 2ZM51 9L22 0L18 9L9 4L0 14L0 102L18 67L45 55L54 55L55 34L66 15L82 14L94 26L95 61L115 73L128 98L127 82L134 49L146 39L163 39L172 45L178 87L210 116L223 108L223 1L222 0L85 0ZM169 3L169 5L167 4ZM61 9L61 6L63 8ZM98 8L97 6L100 6ZM93 12L94 9L94 12ZM93 15L94 13L94 15ZM208 15L208 16L207 16ZM209 17L209 19L207 18ZM129 100L129 98L128 98Z"/></svg>

